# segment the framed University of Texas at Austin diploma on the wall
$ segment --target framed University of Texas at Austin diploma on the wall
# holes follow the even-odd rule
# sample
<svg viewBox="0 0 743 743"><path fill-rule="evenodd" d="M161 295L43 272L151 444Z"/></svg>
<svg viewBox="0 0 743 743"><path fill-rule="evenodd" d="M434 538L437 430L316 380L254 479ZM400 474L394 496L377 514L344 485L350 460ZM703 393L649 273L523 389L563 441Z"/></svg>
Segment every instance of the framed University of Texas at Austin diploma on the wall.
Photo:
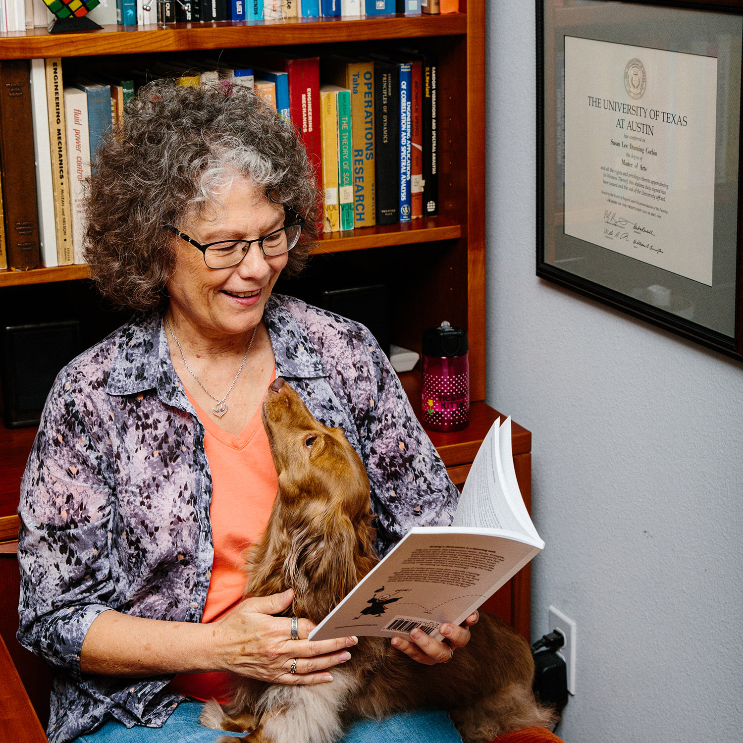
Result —
<svg viewBox="0 0 743 743"><path fill-rule="evenodd" d="M743 0L537 0L536 273L743 360Z"/></svg>

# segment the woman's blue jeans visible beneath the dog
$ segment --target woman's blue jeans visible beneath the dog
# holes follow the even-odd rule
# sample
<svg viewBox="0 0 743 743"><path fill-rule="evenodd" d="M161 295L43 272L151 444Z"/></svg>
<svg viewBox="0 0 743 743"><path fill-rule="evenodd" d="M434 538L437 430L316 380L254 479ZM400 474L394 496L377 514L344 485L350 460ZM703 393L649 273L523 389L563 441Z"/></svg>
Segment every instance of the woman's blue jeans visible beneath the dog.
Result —
<svg viewBox="0 0 743 743"><path fill-rule="evenodd" d="M184 701L163 727L135 725L127 728L108 721L94 733L74 743L214 743L219 736L239 737L198 724L201 702ZM461 743L459 733L445 712L423 710L393 715L384 720L363 720L351 725L343 743Z"/></svg>

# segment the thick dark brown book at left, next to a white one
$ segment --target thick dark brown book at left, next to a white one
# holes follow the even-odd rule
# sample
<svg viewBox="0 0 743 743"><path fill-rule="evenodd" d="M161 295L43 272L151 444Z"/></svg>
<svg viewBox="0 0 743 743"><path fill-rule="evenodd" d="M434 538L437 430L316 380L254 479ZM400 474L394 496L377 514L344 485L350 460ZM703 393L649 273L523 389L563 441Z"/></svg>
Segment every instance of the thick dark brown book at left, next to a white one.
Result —
<svg viewBox="0 0 743 743"><path fill-rule="evenodd" d="M3 184L7 265L29 270L39 265L36 165L27 59L0 62L0 179Z"/></svg>

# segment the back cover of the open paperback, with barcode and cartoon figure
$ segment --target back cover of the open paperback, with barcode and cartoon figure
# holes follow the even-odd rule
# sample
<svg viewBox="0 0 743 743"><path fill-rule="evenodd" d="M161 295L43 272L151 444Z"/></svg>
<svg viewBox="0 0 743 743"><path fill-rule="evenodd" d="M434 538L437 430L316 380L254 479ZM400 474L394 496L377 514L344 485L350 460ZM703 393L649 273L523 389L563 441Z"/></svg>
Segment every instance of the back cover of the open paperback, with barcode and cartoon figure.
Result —
<svg viewBox="0 0 743 743"><path fill-rule="evenodd" d="M416 527L314 629L311 640L344 635L437 639L459 624L541 549L516 533Z"/></svg>

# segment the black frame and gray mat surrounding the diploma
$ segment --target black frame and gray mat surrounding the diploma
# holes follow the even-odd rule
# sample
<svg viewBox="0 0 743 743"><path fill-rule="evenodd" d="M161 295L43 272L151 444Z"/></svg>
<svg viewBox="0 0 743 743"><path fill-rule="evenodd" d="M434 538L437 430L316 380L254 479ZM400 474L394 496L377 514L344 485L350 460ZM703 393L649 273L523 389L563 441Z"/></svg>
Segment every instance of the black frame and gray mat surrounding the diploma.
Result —
<svg viewBox="0 0 743 743"><path fill-rule="evenodd" d="M648 19L655 22L648 24ZM724 80L721 63L717 67L718 91L724 94L726 108L722 117L716 104L714 271L711 284L703 285L565 232L564 44L565 36L577 36L687 52L692 41L693 49L704 48L707 33L707 51L701 56L715 56L715 51L721 56L714 38L718 27L730 27L732 33L724 36L733 39L733 53L725 47ZM684 39L675 38L677 31ZM693 33L698 38L692 39ZM536 275L739 361L743 361L742 39L743 0L536 0ZM723 160L727 169L719 166ZM658 294L658 289L663 291Z"/></svg>

